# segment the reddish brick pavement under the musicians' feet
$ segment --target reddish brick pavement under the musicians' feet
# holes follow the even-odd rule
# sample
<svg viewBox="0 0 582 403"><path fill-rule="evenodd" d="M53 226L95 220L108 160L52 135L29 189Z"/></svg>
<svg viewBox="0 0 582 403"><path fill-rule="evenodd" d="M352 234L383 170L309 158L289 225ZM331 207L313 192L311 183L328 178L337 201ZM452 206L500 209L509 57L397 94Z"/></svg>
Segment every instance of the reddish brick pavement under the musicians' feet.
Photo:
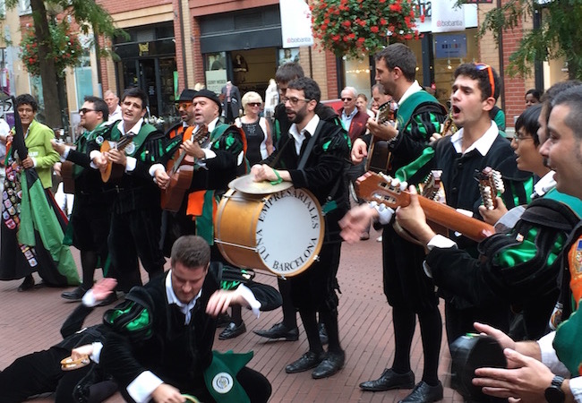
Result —
<svg viewBox="0 0 582 403"><path fill-rule="evenodd" d="M357 387L380 375L393 356L392 323L389 305L382 294L381 244L369 241L357 245L345 244L338 272L342 295L339 297L339 326L342 345L347 352L344 369L326 380L313 381L311 373L288 375L285 365L295 360L307 349L304 331L297 342L263 341L252 333L253 329L268 328L280 320L280 310L261 313L256 319L244 313L247 333L237 339L217 341L219 350L254 351L250 365L263 373L273 386L270 402L398 402L406 390L387 392L362 392ZM75 253L78 262L78 253ZM78 263L79 264L79 263ZM275 285L271 276L258 275L262 282ZM38 279L38 277L36 277ZM60 340L59 328L74 305L60 298L61 289L39 287L27 293L18 293L20 281L0 282L0 368L13 362L17 356L35 349L47 348ZM100 321L106 308L91 313L88 324ZM443 330L444 333L444 330ZM218 335L218 332L217 332ZM449 372L449 353L443 339L440 377L445 381ZM411 357L416 381L423 368L422 345L418 328ZM1 398L0 398L1 400ZM52 402L51 397L34 399L34 402ZM445 402L462 401L457 393L445 389ZM119 395L108 403L123 402Z"/></svg>

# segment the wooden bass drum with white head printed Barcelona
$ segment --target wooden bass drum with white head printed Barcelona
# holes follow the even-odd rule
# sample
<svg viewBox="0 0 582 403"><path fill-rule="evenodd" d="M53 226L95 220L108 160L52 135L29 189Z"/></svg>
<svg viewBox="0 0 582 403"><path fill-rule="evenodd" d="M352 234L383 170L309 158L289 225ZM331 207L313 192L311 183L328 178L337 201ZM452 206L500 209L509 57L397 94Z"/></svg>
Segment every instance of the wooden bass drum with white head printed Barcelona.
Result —
<svg viewBox="0 0 582 403"><path fill-rule="evenodd" d="M318 259L324 226L320 203L305 189L268 195L231 189L218 205L215 242L237 267L292 277Z"/></svg>

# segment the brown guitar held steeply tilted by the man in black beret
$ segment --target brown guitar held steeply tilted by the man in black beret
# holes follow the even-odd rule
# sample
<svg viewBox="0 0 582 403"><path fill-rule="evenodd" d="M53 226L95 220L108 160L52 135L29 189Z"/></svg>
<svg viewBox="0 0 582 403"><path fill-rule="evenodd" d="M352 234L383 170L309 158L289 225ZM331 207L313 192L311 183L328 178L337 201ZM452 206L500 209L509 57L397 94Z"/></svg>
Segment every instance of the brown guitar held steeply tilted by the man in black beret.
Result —
<svg viewBox="0 0 582 403"><path fill-rule="evenodd" d="M192 141L198 141L202 146L209 138L208 129L204 124L199 126L196 133L193 133ZM190 189L194 174L194 159L188 156L185 151L176 151L179 155L175 159L170 159L167 163L167 176L170 177L170 183L162 191L160 204L162 210L176 212L180 210L184 195Z"/></svg>

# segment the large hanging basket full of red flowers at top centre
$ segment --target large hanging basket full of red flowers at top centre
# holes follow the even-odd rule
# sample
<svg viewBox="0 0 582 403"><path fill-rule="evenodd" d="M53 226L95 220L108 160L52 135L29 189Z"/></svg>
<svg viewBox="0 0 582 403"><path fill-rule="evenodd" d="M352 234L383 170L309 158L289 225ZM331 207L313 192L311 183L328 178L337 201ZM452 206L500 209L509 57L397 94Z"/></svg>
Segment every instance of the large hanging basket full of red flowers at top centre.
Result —
<svg viewBox="0 0 582 403"><path fill-rule="evenodd" d="M412 0L314 0L311 10L313 38L336 56L361 57L419 38Z"/></svg>

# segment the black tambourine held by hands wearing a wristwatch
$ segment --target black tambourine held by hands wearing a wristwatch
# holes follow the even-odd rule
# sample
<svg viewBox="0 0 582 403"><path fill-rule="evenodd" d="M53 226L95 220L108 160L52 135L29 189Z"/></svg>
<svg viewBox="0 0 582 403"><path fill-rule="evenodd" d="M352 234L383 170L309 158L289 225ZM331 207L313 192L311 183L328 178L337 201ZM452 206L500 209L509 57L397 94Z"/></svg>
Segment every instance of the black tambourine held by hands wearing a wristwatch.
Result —
<svg viewBox="0 0 582 403"><path fill-rule="evenodd" d="M483 367L507 368L503 348L490 336L468 333L450 345L450 386L471 402L489 402L481 387L473 384L475 369Z"/></svg>

